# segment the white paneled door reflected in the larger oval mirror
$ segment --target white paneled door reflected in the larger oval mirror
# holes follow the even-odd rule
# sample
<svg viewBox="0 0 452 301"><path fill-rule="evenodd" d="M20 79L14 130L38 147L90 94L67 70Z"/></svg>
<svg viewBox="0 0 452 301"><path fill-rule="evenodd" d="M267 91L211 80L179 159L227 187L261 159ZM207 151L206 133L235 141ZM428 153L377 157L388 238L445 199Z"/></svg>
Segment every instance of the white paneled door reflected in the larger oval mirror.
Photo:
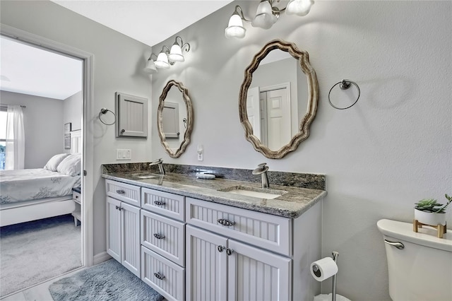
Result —
<svg viewBox="0 0 452 301"><path fill-rule="evenodd" d="M290 98L287 88L270 90L266 94L268 148L277 151L292 138Z"/></svg>

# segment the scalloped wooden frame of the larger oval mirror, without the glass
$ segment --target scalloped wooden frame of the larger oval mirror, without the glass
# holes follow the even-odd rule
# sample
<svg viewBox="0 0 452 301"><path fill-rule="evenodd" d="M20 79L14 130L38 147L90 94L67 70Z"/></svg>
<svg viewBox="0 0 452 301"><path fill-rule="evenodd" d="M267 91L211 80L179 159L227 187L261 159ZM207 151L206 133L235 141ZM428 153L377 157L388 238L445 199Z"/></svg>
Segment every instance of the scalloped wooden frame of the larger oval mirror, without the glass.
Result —
<svg viewBox="0 0 452 301"><path fill-rule="evenodd" d="M307 114L304 115L302 122L299 124L299 132L292 136L292 139L285 146L280 148L278 151L271 151L270 148L263 146L261 141L253 135L253 128L248 121L246 115L246 95L248 93L249 85L251 85L251 80L253 79L253 72L259 66L259 63L266 57L266 55L274 49L280 49L285 52L289 52L292 57L298 59L299 66L301 67L304 74L307 76L308 83L308 107ZM245 130L246 140L251 142L254 149L266 158L270 159L280 159L283 158L287 153L295 151L302 141L304 141L309 136L309 126L311 122L316 117L317 105L319 102L319 83L317 82L317 76L314 69L312 69L311 64L309 64L309 54L303 50L299 50L297 46L291 42L285 42L283 40L272 40L268 42L260 52L258 52L251 64L245 69L245 77L240 87L239 94L239 115L240 122Z"/></svg>

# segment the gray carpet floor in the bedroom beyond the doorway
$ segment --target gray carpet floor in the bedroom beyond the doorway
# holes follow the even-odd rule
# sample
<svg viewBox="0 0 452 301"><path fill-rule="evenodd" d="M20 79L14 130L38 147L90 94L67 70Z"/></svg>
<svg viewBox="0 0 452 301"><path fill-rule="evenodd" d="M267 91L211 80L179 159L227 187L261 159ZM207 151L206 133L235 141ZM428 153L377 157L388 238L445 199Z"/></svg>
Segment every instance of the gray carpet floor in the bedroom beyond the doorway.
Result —
<svg viewBox="0 0 452 301"><path fill-rule="evenodd" d="M0 228L0 296L81 266L81 227L71 215Z"/></svg>

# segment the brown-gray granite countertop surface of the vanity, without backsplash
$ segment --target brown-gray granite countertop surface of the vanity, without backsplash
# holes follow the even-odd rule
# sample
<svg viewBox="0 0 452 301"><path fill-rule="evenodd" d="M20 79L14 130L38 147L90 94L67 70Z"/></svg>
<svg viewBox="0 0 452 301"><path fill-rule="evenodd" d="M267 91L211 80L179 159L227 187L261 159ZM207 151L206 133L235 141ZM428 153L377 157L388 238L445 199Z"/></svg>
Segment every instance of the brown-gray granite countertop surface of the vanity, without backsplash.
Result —
<svg viewBox="0 0 452 301"><path fill-rule="evenodd" d="M270 213L276 216L297 218L326 195L326 191L298 187L279 186L270 183L270 190L285 191L276 199L260 199L254 196L232 194L218 189L230 187L251 187L256 191L263 191L260 183L243 182L232 179L198 179L194 175L167 173L153 174L152 179L140 179L139 175L150 175L149 172L108 172L102 174L105 179L112 179L126 184L147 187L172 194L180 194L195 199L222 203L229 206L245 208L252 211Z"/></svg>

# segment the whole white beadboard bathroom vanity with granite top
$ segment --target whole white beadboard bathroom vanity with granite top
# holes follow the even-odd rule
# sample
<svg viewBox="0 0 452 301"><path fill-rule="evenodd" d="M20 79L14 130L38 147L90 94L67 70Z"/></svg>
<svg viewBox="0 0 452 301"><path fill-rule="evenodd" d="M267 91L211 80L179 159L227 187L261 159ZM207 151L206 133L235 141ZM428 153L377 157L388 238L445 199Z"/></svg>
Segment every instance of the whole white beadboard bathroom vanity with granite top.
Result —
<svg viewBox="0 0 452 301"><path fill-rule="evenodd" d="M108 254L167 300L320 293L309 266L321 258L326 191L176 173L102 177Z"/></svg>

